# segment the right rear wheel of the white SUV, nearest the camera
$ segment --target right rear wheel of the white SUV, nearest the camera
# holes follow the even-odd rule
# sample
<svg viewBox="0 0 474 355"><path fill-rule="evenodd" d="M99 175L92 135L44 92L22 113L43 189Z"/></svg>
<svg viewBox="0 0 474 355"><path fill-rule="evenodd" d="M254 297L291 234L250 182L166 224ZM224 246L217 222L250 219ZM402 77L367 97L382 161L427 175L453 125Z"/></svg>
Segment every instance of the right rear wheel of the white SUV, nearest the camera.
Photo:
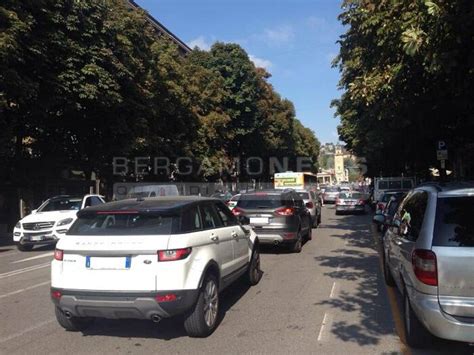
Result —
<svg viewBox="0 0 474 355"><path fill-rule="evenodd" d="M184 329L190 337L207 337L216 328L218 314L219 288L217 279L214 275L209 274L199 290L194 309L185 317Z"/></svg>

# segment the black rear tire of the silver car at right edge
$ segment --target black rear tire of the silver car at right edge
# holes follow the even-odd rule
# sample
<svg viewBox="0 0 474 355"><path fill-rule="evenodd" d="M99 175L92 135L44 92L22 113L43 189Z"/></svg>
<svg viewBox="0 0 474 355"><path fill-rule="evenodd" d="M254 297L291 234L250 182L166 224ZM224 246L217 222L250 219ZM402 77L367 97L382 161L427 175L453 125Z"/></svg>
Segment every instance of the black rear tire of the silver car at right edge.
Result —
<svg viewBox="0 0 474 355"><path fill-rule="evenodd" d="M403 294L404 305L404 330L407 345L412 348L424 348L430 342L432 335L426 330L425 326L420 322L415 312L411 308L410 299L405 290Z"/></svg>

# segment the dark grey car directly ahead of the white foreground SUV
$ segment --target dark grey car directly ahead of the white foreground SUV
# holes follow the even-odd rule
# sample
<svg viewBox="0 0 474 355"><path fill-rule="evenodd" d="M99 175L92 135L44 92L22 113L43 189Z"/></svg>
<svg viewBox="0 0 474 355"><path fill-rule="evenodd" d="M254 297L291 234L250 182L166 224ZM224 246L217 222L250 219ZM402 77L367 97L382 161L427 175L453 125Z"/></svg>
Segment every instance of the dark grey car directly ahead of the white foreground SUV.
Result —
<svg viewBox="0 0 474 355"><path fill-rule="evenodd" d="M284 244L299 253L303 239L312 237L311 214L291 189L242 194L232 213L255 230L262 244Z"/></svg>

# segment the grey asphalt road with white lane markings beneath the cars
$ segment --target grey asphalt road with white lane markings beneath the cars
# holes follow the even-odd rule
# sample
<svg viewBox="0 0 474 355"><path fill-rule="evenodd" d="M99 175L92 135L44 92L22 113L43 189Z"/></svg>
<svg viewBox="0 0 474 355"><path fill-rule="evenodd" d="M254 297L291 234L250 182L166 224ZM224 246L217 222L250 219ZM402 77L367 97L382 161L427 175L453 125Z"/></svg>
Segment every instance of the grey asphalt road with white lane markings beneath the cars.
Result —
<svg viewBox="0 0 474 355"><path fill-rule="evenodd" d="M400 297L383 283L377 238L369 215L324 207L301 254L265 248L260 284L224 291L220 324L206 339L187 337L179 319L98 320L84 333L66 332L49 299L52 248L2 246L0 353L472 354L443 340L425 351L400 341Z"/></svg>

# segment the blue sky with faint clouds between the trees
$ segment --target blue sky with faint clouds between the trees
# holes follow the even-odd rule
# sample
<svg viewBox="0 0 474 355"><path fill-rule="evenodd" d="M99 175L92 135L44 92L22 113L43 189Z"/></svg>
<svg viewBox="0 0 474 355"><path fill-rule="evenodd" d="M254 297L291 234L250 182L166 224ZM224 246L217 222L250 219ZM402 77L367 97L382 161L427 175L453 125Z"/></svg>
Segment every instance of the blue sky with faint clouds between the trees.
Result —
<svg viewBox="0 0 474 355"><path fill-rule="evenodd" d="M136 0L190 47L240 44L271 73L296 115L322 143L338 142L331 100L339 98L336 41L343 33L338 0Z"/></svg>

